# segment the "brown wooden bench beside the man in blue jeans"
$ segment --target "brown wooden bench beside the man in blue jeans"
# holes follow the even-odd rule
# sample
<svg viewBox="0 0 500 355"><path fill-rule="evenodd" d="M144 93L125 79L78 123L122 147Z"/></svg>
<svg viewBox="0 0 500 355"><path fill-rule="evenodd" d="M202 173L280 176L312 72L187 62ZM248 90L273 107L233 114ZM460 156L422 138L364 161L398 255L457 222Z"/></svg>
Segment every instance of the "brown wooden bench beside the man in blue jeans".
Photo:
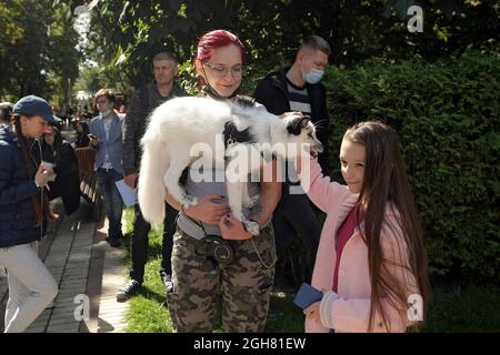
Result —
<svg viewBox="0 0 500 355"><path fill-rule="evenodd" d="M96 152L90 148L76 148L74 153L78 159L78 168L80 170L80 195L94 207L96 215L100 215L101 197L99 194L99 185L97 174L93 170L96 161Z"/></svg>

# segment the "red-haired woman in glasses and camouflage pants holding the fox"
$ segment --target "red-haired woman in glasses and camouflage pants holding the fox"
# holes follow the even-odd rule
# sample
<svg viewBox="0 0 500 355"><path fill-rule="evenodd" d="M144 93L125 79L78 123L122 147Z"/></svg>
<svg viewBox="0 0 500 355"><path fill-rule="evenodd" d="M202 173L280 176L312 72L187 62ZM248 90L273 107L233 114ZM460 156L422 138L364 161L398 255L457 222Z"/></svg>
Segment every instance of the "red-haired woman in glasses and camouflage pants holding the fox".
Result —
<svg viewBox="0 0 500 355"><path fill-rule="evenodd" d="M194 65L204 95L254 105L239 95L244 64L244 45L224 30L203 34L198 42ZM262 110L264 108L262 106ZM276 162L267 169L276 171ZM210 181L194 181L188 174L186 190L199 203L189 209L168 195L180 211L173 237L173 290L167 295L177 332L213 331L219 292L224 332L262 332L274 277L274 233L271 216L281 196L279 182L249 182L249 195L260 194L260 205L249 217L260 225L252 236L230 215L223 169L216 166ZM261 172L260 176L264 176ZM203 173L203 176L207 176ZM276 179L274 179L276 180Z"/></svg>

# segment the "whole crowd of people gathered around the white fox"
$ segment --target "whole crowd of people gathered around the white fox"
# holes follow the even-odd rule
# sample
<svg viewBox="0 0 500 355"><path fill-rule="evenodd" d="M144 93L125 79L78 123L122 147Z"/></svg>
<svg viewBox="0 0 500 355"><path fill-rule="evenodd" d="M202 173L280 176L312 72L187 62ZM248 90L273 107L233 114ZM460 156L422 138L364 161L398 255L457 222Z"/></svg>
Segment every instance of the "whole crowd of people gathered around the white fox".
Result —
<svg viewBox="0 0 500 355"><path fill-rule="evenodd" d="M324 39L306 38L293 63L270 72L252 98L240 93L247 54L233 33L204 33L192 64L201 95L277 115L300 111L311 118L318 139L328 148L332 123L320 81L330 54ZM134 92L127 111L116 110L113 91L101 89L94 94L91 120L79 109L73 121L66 114L61 115L66 123L61 122L46 100L33 95L13 105L0 104L0 265L7 268L10 291L6 332L24 331L57 294L53 277L37 255L36 242L43 236L47 220L53 217L50 199L61 196L67 214L78 209L74 148L96 152L94 171L109 220L107 241L112 247L121 244L123 201L116 182L124 180L137 187L140 141L149 114L167 100L188 95L176 81L177 68L171 53L158 53L152 59L154 80ZM74 124L71 144L61 136L64 124ZM296 237L308 251L310 283L322 293L303 310L307 332L404 332L420 323L408 317L408 297L421 295L424 315L427 255L397 134L380 122L350 128L340 148L343 185L324 175L334 160L327 149L318 159L301 156L287 162L290 175L284 182L249 183L249 191L260 194L258 213L252 216L260 226L256 236L231 215L223 182L198 182L187 172L182 183L199 202L186 207L167 195L159 270L177 332L212 332L219 298L224 332L262 332L277 260ZM301 179L304 164L311 179ZM270 169L278 169L276 160ZM290 193L297 184L304 185L308 194ZM319 213L327 214L323 225ZM136 204L130 280L118 292L118 302L142 287L150 230ZM231 247L230 263L203 252L212 236Z"/></svg>

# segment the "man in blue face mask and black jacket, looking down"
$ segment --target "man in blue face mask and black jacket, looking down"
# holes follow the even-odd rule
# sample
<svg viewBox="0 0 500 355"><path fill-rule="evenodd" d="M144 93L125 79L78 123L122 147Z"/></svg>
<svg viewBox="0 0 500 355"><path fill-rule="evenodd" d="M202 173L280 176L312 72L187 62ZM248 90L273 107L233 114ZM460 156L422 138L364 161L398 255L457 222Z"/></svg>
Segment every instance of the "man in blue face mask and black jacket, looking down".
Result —
<svg viewBox="0 0 500 355"><path fill-rule="evenodd" d="M328 171L328 140L331 134L324 88L320 81L328 65L330 53L330 45L321 37L306 38L297 51L293 64L268 74L254 92L257 102L263 104L273 114L301 111L311 116L312 122L317 123L317 136L324 148L324 151L318 156L323 171ZM290 172L290 166L287 171ZM297 184L292 182L297 181L297 176L291 175L293 174L287 173L287 182L282 184L282 197L272 219L278 252L276 280L278 283L288 284L292 281L283 275L283 271L289 268L283 262L286 260L284 251L290 242L297 236L303 241L309 254L309 272L302 273L302 275L306 274L302 281L308 282L320 236L320 224L308 197L304 194L290 193L290 186ZM296 282L300 281L296 280Z"/></svg>

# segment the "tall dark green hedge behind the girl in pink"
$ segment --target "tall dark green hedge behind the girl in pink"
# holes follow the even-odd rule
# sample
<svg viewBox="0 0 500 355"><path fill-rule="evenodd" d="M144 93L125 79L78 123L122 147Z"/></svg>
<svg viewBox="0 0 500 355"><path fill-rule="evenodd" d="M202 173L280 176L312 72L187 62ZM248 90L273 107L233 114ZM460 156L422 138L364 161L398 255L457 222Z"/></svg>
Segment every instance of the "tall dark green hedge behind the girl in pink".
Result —
<svg viewBox="0 0 500 355"><path fill-rule="evenodd" d="M500 58L470 51L330 68L331 176L346 129L377 119L397 129L426 232L431 275L498 283Z"/></svg>

